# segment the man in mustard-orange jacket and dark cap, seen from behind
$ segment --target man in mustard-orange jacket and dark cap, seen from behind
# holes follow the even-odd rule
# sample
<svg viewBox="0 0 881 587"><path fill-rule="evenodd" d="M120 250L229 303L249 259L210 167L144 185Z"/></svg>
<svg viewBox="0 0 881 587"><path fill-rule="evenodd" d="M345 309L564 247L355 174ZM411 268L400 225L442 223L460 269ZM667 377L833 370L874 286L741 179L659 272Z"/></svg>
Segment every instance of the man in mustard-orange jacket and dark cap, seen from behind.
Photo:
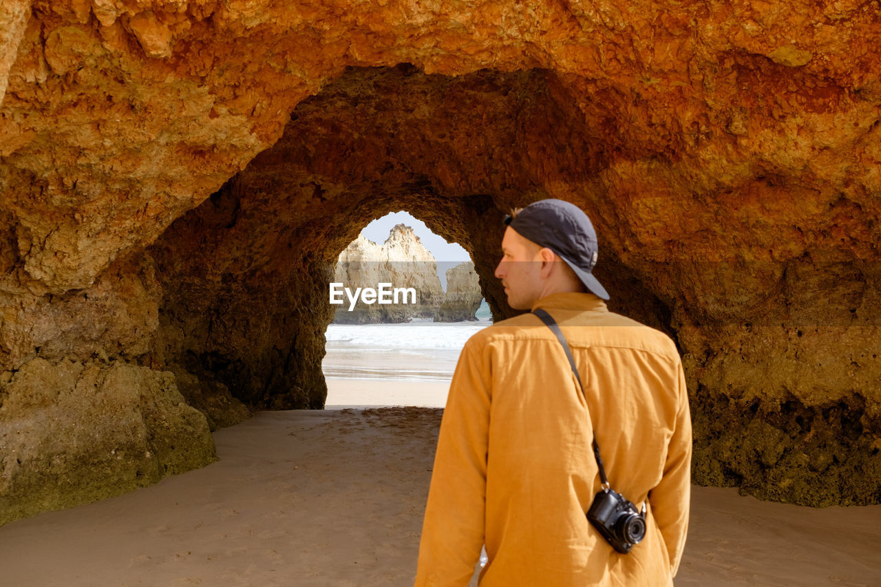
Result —
<svg viewBox="0 0 881 587"><path fill-rule="evenodd" d="M507 220L495 276L515 309L559 323L583 395L550 328L533 314L463 348L441 422L416 585L670 585L685 546L692 455L685 375L663 333L612 314L594 228L562 200ZM586 397L586 399L585 399ZM618 554L585 517L611 488L646 505L645 538Z"/></svg>

